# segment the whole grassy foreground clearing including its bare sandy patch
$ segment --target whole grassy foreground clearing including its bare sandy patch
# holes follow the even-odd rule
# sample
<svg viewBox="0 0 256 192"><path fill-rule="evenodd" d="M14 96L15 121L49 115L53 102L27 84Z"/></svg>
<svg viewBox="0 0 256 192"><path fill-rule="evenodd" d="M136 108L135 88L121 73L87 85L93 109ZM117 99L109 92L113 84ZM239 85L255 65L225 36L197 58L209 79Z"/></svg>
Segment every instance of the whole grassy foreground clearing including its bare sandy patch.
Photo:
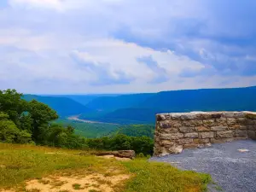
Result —
<svg viewBox="0 0 256 192"><path fill-rule="evenodd" d="M211 180L145 159L108 160L80 152L0 143L0 191L198 192Z"/></svg>

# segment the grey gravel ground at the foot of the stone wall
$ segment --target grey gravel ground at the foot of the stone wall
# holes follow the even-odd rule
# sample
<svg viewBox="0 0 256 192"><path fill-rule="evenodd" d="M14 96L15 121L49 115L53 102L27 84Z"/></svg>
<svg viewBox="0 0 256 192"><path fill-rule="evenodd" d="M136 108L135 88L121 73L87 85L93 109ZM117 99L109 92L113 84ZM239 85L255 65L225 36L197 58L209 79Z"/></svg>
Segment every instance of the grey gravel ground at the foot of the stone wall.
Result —
<svg viewBox="0 0 256 192"><path fill-rule="evenodd" d="M238 149L247 149L240 152ZM226 192L256 192L256 141L213 144L209 148L185 149L181 154L153 157L172 166L206 172ZM209 186L211 192L219 191Z"/></svg>

